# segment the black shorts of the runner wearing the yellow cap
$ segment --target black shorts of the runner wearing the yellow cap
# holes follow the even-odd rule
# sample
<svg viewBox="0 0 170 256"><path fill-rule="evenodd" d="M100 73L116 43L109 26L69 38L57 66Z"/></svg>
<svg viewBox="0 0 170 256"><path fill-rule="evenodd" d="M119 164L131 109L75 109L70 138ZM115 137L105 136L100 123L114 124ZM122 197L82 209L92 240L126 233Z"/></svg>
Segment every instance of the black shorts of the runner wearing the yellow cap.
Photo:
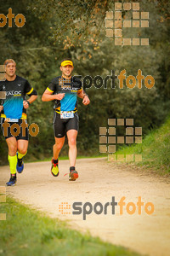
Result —
<svg viewBox="0 0 170 256"><path fill-rule="evenodd" d="M65 137L65 132L79 129L79 117L74 113L74 118L60 119L60 114L54 112L54 137Z"/></svg>

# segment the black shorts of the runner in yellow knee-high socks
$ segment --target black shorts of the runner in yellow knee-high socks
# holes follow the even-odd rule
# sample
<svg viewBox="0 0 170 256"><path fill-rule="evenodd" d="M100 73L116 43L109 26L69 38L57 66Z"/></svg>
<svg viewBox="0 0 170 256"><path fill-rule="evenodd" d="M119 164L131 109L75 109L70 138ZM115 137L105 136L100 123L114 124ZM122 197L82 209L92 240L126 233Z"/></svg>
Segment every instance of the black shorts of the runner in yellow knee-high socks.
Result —
<svg viewBox="0 0 170 256"><path fill-rule="evenodd" d="M22 125L22 122L24 125ZM6 123L6 124L4 124ZM7 127L8 123L8 127ZM29 131L28 127L25 125L27 124L25 119L18 119L17 121L10 122L10 119L1 119L1 128L3 131L3 136L5 139L9 137L15 137L16 140L26 140L28 141L29 138Z"/></svg>

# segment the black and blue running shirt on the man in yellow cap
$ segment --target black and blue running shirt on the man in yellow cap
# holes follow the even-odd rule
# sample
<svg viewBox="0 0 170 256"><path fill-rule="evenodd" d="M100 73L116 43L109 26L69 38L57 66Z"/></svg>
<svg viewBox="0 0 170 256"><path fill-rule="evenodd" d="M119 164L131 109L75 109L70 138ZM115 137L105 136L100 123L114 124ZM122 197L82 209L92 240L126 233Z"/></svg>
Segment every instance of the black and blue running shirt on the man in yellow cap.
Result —
<svg viewBox="0 0 170 256"><path fill-rule="evenodd" d="M65 79L59 76L51 81L47 90L53 92L53 94L65 93L61 101L55 101L54 110L57 113L60 113L60 111L77 112L77 92L82 90L82 82L80 79L76 77Z"/></svg>

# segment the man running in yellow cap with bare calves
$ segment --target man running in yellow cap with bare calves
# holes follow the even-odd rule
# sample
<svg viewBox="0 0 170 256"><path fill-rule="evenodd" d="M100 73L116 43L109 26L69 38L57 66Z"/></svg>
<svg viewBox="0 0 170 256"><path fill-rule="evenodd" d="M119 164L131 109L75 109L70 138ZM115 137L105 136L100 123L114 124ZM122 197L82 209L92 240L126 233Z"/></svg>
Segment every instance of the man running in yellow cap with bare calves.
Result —
<svg viewBox="0 0 170 256"><path fill-rule="evenodd" d="M77 96L82 103L88 105L88 95L82 90L82 82L71 76L73 71L71 59L61 61L62 76L54 78L42 95L42 102L55 101L54 105L54 158L52 159L51 173L59 175L59 152L65 143L65 132L69 144L70 175L69 180L75 181L78 173L75 169L77 159Z"/></svg>

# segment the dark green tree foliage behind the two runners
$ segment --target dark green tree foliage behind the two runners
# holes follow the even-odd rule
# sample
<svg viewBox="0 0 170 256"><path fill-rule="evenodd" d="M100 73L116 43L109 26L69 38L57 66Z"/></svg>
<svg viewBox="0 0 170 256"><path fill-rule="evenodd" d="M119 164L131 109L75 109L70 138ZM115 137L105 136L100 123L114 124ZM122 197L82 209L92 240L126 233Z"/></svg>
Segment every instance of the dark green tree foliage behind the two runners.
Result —
<svg viewBox="0 0 170 256"><path fill-rule="evenodd" d="M116 1L120 2L121 1ZM126 3L128 1L122 1ZM54 144L53 105L42 102L41 96L51 79L59 75L60 61L71 57L74 74L105 78L111 70L118 75L136 76L138 69L144 77L152 75L154 88L139 90L107 89L93 86L87 89L91 104L82 105L79 99L80 131L78 154L99 154L99 127L107 125L108 118L133 118L135 126L142 126L146 135L159 127L170 107L170 40L169 1L133 1L140 3L141 11L150 12L149 28L123 28L124 38L150 38L150 46L116 46L114 38L105 37L105 11L114 10L115 1L2 1L0 13L23 14L26 24L0 27L0 63L7 58L17 62L17 74L28 79L38 92L38 99L28 111L28 123L37 123L40 132L30 137L27 160L42 160L52 155ZM122 18L132 20L132 12L122 12ZM118 80L117 80L118 81ZM121 130L118 131L121 134ZM66 143L65 143L66 144ZM67 145L61 154L67 154ZM0 165L7 163L7 145L0 135Z"/></svg>

